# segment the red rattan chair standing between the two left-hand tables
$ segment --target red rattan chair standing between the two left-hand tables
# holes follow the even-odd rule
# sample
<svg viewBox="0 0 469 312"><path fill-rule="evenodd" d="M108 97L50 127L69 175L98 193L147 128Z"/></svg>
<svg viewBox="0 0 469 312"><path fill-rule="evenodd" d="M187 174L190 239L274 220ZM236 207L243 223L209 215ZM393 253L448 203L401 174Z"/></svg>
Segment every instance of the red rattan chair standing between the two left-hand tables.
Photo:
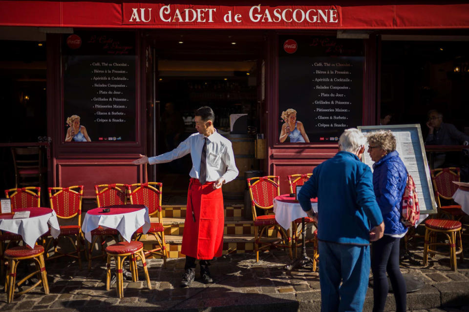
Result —
<svg viewBox="0 0 469 312"><path fill-rule="evenodd" d="M61 256L77 258L80 269L82 268L81 242L83 241L81 228L82 197L83 185L70 187L49 187L50 208L55 211L59 221L77 217L78 222L76 225L61 225L59 237L57 237L57 239L53 239L51 237L45 245L47 259L54 259ZM66 237L66 239L72 243L73 248L75 249L74 252L63 253L58 250L58 241L62 237ZM49 254L49 246L51 242L54 244L53 256L50 256Z"/></svg>

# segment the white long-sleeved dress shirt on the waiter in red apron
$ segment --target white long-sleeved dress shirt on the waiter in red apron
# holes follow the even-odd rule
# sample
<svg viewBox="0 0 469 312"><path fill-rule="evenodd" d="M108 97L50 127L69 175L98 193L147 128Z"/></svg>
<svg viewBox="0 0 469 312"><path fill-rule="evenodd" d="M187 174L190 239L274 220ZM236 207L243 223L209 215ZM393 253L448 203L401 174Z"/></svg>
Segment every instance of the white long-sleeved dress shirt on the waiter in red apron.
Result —
<svg viewBox="0 0 469 312"><path fill-rule="evenodd" d="M225 179L225 183L234 180L239 172L236 168L231 141L216 131L207 138L207 181L216 181L220 177ZM194 133L171 152L149 157L148 162L150 165L170 162L191 153L192 169L189 176L198 179L203 146L204 135Z"/></svg>

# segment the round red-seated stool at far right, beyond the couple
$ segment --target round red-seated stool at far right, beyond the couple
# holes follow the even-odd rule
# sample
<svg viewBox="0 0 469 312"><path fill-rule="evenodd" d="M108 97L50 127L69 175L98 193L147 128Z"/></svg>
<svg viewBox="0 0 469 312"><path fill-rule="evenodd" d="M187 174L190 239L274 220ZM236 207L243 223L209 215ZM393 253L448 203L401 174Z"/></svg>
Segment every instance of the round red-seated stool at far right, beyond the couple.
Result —
<svg viewBox="0 0 469 312"><path fill-rule="evenodd" d="M436 234L443 233L448 237L449 243L439 243L436 241ZM459 234L459 246L456 249L456 234ZM430 246L449 245L448 252L438 252L430 249ZM428 253L449 255L451 269L457 271L456 254L461 254L461 261L464 260L463 242L461 240L461 222L447 219L429 219L425 221L425 244L424 244L424 266L428 264Z"/></svg>

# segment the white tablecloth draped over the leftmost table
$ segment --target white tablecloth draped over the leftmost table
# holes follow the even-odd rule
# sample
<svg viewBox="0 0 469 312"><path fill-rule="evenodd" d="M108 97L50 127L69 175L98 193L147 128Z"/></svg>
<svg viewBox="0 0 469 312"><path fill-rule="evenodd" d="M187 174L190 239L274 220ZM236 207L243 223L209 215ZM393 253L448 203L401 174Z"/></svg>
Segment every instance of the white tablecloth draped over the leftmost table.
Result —
<svg viewBox="0 0 469 312"><path fill-rule="evenodd" d="M33 210L38 208L19 209L18 211ZM45 211L43 215L20 219L0 219L0 231L7 231L20 234L23 241L31 248L34 248L36 241L42 234L49 231L57 238L60 234L59 220L55 211L49 208L40 208Z"/></svg>

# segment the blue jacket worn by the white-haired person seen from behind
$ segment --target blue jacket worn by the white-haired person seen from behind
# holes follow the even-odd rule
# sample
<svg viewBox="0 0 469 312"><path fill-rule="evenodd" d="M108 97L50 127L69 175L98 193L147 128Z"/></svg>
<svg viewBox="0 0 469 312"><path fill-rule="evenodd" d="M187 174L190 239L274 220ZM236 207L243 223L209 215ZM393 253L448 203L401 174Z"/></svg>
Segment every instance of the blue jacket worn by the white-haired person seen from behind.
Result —
<svg viewBox="0 0 469 312"><path fill-rule="evenodd" d="M298 193L304 211L311 209L314 197L318 197L318 238L322 241L368 245L371 227L383 222L371 169L352 153L339 152L313 170Z"/></svg>

